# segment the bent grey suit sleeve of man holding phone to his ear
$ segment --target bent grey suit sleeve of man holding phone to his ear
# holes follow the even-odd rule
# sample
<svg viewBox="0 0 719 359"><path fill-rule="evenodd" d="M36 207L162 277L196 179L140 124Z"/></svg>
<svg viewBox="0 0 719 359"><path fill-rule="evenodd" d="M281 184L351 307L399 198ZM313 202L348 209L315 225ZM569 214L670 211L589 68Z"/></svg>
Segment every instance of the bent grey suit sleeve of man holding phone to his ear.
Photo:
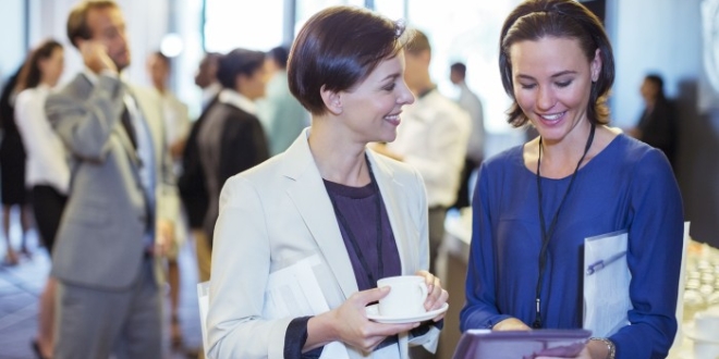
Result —
<svg viewBox="0 0 719 359"><path fill-rule="evenodd" d="M75 157L105 161L110 149L110 134L120 121L124 89L118 78L100 75L89 97L80 98L76 88L85 78L75 79L75 88L50 95L45 109L58 135ZM88 86L90 86L88 84Z"/></svg>

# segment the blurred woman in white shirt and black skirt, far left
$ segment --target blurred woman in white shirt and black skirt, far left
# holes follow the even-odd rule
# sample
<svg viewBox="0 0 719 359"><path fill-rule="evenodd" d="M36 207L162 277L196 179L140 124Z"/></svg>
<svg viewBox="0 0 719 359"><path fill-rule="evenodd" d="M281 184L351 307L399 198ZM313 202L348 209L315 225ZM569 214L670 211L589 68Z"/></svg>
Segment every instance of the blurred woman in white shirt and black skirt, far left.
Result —
<svg viewBox="0 0 719 359"><path fill-rule="evenodd" d="M23 65L15 98L15 124L27 153L25 180L39 237L50 258L68 201L70 166L64 145L45 114L45 100L63 69L62 45L53 39L41 42ZM40 294L37 335L31 343L39 358L52 357L54 298L56 280L49 276Z"/></svg>

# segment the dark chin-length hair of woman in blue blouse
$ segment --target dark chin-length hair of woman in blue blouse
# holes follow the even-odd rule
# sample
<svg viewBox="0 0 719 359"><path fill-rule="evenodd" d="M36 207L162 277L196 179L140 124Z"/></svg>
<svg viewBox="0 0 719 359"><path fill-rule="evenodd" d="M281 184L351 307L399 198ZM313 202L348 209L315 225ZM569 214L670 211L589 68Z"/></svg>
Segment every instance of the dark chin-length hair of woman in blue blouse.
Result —
<svg viewBox="0 0 719 359"><path fill-rule="evenodd" d="M500 35L499 71L504 91L513 103L508 122L514 127L529 120L514 98L510 47L520 41L536 41L545 37L576 39L588 61L599 49L601 72L592 85L587 119L593 124L609 123L607 97L614 82L614 57L611 44L599 18L574 0L527 0L517 5L504 21Z"/></svg>

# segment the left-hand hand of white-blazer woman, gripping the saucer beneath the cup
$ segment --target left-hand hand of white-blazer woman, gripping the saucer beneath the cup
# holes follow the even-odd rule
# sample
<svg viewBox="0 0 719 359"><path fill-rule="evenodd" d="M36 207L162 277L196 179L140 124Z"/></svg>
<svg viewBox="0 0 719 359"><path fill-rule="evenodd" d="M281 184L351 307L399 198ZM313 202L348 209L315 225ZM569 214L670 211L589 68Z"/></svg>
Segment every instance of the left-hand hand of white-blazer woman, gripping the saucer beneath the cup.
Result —
<svg viewBox="0 0 719 359"><path fill-rule="evenodd" d="M370 352L386 337L417 327L419 322L382 324L367 319L365 307L387 296L389 290L389 287L382 287L357 292L341 306L310 319L305 349L339 341Z"/></svg>

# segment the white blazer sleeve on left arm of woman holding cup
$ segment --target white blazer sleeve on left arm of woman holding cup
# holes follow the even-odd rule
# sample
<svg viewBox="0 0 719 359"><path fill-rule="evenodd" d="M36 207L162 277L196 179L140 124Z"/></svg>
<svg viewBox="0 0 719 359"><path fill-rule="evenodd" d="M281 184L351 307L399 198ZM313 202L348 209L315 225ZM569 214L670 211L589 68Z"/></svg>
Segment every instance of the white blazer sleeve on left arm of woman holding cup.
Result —
<svg viewBox="0 0 719 359"><path fill-rule="evenodd" d="M246 178L234 176L222 187L206 324L210 358L283 358L292 318L263 319L271 256L264 212Z"/></svg>

